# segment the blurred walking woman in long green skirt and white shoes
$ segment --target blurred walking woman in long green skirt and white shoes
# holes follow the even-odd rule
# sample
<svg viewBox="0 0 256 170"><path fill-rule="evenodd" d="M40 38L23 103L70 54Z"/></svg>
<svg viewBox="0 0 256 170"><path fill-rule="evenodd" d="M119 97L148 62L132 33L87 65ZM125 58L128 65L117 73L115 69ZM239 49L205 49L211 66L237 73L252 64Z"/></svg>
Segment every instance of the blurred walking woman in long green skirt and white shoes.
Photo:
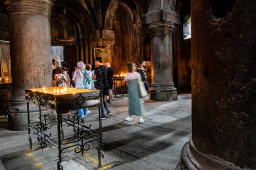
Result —
<svg viewBox="0 0 256 170"><path fill-rule="evenodd" d="M139 95L138 87L138 79L141 79L141 75L135 71L134 63L128 63L128 72L127 76L125 76L125 81L128 87L129 116L125 120L131 122L133 121L132 115L140 116L139 122L143 124L142 114L144 114L145 109L143 99Z"/></svg>

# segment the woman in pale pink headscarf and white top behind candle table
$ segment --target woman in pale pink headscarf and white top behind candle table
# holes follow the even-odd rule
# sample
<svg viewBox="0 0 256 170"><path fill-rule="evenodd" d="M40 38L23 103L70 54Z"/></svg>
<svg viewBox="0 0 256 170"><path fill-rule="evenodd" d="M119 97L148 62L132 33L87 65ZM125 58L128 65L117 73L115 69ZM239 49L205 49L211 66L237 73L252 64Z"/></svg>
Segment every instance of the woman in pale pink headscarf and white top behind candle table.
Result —
<svg viewBox="0 0 256 170"><path fill-rule="evenodd" d="M84 62L77 62L77 70L74 72L72 78L72 85L75 88L84 89L84 67ZM84 118L88 114L88 108L79 109L78 114Z"/></svg>

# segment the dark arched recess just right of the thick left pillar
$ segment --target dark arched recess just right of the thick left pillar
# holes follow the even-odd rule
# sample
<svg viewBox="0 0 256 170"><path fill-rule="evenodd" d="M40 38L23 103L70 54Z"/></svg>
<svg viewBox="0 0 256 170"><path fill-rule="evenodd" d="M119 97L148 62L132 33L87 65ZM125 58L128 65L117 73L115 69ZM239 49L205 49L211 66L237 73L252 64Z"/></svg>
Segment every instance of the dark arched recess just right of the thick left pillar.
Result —
<svg viewBox="0 0 256 170"><path fill-rule="evenodd" d="M86 3L55 1L51 16L51 42L64 46L64 60L72 70L78 60L93 62L96 26Z"/></svg>

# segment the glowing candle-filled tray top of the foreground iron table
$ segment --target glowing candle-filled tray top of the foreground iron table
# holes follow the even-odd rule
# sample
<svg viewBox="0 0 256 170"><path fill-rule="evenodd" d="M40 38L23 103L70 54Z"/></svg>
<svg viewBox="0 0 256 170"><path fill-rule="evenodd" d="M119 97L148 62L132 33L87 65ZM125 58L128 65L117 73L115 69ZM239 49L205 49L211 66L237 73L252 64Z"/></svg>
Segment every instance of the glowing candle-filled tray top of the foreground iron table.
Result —
<svg viewBox="0 0 256 170"><path fill-rule="evenodd" d="M70 87L25 89L26 101L44 106L58 113L100 105L100 91Z"/></svg>

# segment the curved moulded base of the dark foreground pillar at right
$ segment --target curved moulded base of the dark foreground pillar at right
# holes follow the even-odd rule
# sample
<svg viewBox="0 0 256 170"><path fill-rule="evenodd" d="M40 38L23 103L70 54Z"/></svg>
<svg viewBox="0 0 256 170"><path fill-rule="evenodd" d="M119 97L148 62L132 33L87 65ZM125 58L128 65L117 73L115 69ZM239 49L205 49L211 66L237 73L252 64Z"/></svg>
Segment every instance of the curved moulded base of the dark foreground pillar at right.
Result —
<svg viewBox="0 0 256 170"><path fill-rule="evenodd" d="M206 155L195 148L192 138L187 142L181 151L181 169L182 170L207 170L207 169L222 169L222 170L242 170L234 164L224 161L219 157ZM248 169L250 170L250 169Z"/></svg>

